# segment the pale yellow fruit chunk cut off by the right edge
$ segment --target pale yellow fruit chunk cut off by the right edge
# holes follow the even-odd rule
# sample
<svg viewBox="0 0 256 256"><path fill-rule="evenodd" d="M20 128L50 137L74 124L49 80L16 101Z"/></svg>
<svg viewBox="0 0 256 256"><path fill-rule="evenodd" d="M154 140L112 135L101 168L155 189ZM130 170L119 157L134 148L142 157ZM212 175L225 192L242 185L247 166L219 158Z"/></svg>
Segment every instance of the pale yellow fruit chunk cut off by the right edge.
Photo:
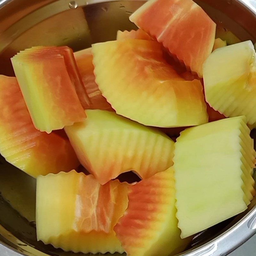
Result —
<svg viewBox="0 0 256 256"><path fill-rule="evenodd" d="M248 124L254 125L255 68L255 50L251 41L216 49L204 63L206 101L225 116L244 115Z"/></svg>

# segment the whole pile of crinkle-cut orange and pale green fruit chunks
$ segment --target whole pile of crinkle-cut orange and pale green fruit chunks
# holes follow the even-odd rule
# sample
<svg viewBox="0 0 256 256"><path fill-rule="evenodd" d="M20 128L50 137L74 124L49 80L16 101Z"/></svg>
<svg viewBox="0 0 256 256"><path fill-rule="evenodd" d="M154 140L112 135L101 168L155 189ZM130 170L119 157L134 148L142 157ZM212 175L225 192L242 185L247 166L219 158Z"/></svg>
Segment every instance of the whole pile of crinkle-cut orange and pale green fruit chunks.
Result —
<svg viewBox="0 0 256 256"><path fill-rule="evenodd" d="M192 0L130 20L80 52L21 51L0 76L0 152L37 179L37 239L65 251L174 255L255 195L252 42Z"/></svg>

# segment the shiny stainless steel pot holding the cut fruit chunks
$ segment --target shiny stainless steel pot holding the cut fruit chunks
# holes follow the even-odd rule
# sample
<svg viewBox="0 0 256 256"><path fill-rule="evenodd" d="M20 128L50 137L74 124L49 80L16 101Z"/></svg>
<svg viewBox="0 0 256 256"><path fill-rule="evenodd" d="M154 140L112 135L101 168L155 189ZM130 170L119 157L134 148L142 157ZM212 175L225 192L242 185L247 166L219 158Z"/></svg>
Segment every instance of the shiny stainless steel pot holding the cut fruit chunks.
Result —
<svg viewBox="0 0 256 256"><path fill-rule="evenodd" d="M256 0L196 2L240 39L255 43ZM0 0L0 74L13 75L10 57L30 46L69 45L76 51L113 40L118 29L135 28L128 17L141 4L137 0ZM82 255L37 242L34 220L35 180L0 158L0 255ZM256 198L246 212L197 235L180 255L227 255L255 233Z"/></svg>

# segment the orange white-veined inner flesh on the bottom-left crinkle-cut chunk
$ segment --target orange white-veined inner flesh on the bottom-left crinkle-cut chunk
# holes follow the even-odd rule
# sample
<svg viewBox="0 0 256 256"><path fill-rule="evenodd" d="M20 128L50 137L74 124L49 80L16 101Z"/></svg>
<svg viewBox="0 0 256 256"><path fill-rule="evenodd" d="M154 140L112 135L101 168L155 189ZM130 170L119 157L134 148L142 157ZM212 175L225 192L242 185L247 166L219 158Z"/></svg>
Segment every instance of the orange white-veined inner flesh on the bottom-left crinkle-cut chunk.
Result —
<svg viewBox="0 0 256 256"><path fill-rule="evenodd" d="M83 232L112 232L124 209L127 208L128 184L111 180L105 185L100 185L92 175L86 176L80 182L82 191L77 199L83 207L76 211L76 216L82 216L76 221L76 229Z"/></svg>

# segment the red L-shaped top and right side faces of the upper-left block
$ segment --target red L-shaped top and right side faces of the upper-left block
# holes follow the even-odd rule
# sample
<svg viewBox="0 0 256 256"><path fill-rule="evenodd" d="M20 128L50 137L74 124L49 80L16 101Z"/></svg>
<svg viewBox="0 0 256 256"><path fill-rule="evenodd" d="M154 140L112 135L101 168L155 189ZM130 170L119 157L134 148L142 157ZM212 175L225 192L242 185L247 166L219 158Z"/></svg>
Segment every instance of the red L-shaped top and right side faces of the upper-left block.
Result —
<svg viewBox="0 0 256 256"><path fill-rule="evenodd" d="M72 83L75 86L77 96L84 109L89 108L91 105L89 96L84 88L82 77L79 74L78 67L76 65L76 60L73 51L68 46L35 46L24 51L20 51L16 56L19 55L36 55L44 56L45 54L61 54L64 58L65 65L67 67L68 75Z"/></svg>

